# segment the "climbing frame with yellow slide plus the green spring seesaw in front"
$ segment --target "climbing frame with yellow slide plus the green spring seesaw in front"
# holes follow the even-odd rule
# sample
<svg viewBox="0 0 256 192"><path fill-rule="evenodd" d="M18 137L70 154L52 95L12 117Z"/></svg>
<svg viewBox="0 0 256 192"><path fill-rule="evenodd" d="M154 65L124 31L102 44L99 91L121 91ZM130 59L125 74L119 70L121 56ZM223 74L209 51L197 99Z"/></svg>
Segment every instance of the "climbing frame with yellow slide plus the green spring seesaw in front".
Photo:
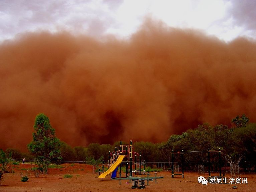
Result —
<svg viewBox="0 0 256 192"><path fill-rule="evenodd" d="M139 163L137 162L139 155ZM126 159L126 160L125 160ZM121 177L121 167L122 164L125 164L125 177ZM104 165L108 167L108 170L104 172ZM143 165L143 170L142 170ZM119 168L119 177L117 177L117 171ZM135 169L134 169L135 168ZM137 168L139 170L137 170ZM101 174L100 174L101 173ZM108 161L104 163L102 161L102 171L99 169L98 178L105 178L107 175L111 175L112 180L119 180L119 184L121 184L121 180L130 180L132 181L132 188L145 188L145 180L147 180L147 185L149 185L149 181L154 181L157 183L157 179L164 177L157 177L157 173L155 173L155 177L149 177L150 172L145 171L145 161L141 160L141 152L136 153L133 151L133 141L130 141L129 145L122 145L122 141L120 141L119 150L117 150L117 146L115 146L115 150L110 153L108 152ZM142 175L146 174L147 177L134 177L134 174Z"/></svg>

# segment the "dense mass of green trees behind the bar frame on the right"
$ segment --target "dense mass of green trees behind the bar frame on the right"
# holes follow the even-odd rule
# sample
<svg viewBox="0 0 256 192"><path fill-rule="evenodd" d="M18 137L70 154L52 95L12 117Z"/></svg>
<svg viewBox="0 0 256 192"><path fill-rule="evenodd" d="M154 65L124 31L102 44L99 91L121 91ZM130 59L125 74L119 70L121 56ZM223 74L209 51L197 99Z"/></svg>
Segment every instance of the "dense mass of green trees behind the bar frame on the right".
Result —
<svg viewBox="0 0 256 192"><path fill-rule="evenodd" d="M249 119L242 115L232 120L236 123L236 128L229 128L227 125L212 126L208 123L198 125L197 128L188 129L180 135L171 135L167 142L160 143L157 147L162 161L170 162L171 151L202 151L221 149L222 156L225 154L238 153L245 155L246 162L254 162L256 156L256 123L249 123ZM162 154L162 155L161 155ZM179 162L181 158L175 155L175 161ZM218 162L218 155L212 154L211 160ZM184 161L192 167L192 162L207 162L207 153L185 153ZM255 164L255 163L254 163ZM247 164L247 167L249 165ZM250 165L252 166L252 165ZM194 166L195 167L195 166Z"/></svg>

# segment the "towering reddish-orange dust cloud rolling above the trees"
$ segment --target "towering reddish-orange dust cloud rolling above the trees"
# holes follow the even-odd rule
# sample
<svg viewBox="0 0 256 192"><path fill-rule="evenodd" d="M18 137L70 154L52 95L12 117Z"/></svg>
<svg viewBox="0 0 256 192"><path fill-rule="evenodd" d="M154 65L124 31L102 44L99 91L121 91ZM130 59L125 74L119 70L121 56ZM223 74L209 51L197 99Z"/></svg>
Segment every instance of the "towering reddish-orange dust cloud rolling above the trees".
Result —
<svg viewBox="0 0 256 192"><path fill-rule="evenodd" d="M256 43L146 22L128 40L36 32L0 45L0 148L26 148L43 112L72 146L165 141L255 122Z"/></svg>

